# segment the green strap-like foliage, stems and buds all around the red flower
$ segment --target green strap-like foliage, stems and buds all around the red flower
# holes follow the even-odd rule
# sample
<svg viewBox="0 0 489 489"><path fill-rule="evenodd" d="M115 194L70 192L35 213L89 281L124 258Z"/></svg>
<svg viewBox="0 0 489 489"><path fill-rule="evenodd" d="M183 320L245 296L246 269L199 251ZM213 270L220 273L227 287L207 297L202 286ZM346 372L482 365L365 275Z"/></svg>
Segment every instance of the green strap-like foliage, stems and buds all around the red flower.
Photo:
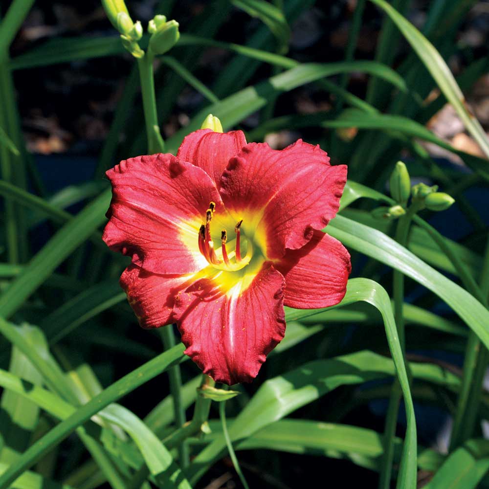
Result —
<svg viewBox="0 0 489 489"><path fill-rule="evenodd" d="M318 477L350 487L356 476L379 489L489 487L489 139L464 96L489 61L466 46L457 77L447 64L476 2L427 2L417 27L415 2L350 2L341 59L327 45L290 49L297 19L319 15L313 0L201 2L180 27L169 21L178 2L163 0L144 29L131 2L103 0L113 35L12 53L33 3L2 5L0 19L0 489L198 488L223 474L222 487L316 487ZM381 26L365 60L356 46L367 15ZM223 40L233 22L247 22L245 40ZM203 80L212 53L221 66ZM16 73L102 58L131 71L92 178L49 193L22 134ZM363 92L350 83L358 73ZM327 109L295 110L302 89ZM189 92L188 120L168 129ZM427 127L447 104L477 154ZM105 171L175 154L208 114L248 141L293 132L348 165L327 227L352 255L344 299L285 308L285 338L251 384L231 390L186 361L175 328L137 327L118 282L128 260L102 242ZM452 228L467 232L445 237Z"/></svg>

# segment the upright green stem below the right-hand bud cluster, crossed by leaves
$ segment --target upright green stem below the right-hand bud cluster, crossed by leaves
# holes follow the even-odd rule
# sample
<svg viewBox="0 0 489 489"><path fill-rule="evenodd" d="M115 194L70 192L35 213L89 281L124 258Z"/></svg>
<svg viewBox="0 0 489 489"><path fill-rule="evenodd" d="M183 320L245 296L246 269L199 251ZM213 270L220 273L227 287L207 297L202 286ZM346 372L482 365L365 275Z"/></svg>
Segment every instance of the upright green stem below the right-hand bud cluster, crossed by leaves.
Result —
<svg viewBox="0 0 489 489"><path fill-rule="evenodd" d="M396 228L396 241L401 246L406 246L411 221L419 210L416 203L411 204L408 211L402 216ZM404 275L399 270L393 272L393 296L394 296L394 318L396 320L396 328L399 336L399 343L402 349L402 354L405 355L406 340L404 328L404 315L402 307L404 304ZM382 456L382 464L380 467L380 477L378 482L379 489L389 489L391 486L392 462L394 460L394 438L396 436L396 425L398 420L399 404L401 399L401 389L397 380L392 384L391 396L387 408L387 416L384 426L384 454Z"/></svg>

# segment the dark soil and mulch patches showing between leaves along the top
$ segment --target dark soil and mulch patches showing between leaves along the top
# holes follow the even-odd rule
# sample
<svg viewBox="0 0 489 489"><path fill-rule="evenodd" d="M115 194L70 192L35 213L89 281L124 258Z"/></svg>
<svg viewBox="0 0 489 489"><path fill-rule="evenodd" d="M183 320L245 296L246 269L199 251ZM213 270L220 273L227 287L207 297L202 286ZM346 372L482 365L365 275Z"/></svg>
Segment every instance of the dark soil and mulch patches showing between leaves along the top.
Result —
<svg viewBox="0 0 489 489"><path fill-rule="evenodd" d="M180 32L185 33L209 3L178 1L171 15L165 14L168 18L178 20ZM150 20L156 12L156 1L128 1L127 4L133 18L140 19L143 23ZM408 18L421 27L429 2L415 1L413 4L415 7L409 10ZM316 2L315 7L303 13L292 25L288 56L301 62L342 61L355 6L356 0ZM363 18L355 58L371 60L374 59L382 17L378 9L367 2ZM232 9L215 38L244 44L259 24L260 21L250 18L244 12ZM455 75L474 59L487 56L488 31L489 2L480 1L471 10L457 35L457 42L461 46L459 54L448 60ZM15 57L58 36L113 35L114 29L100 2L39 0L13 43L11 55ZM181 48L177 46L171 53L177 59L179 49ZM397 59L401 60L407 50L408 46L404 44L404 51L397 53ZM232 53L221 49L206 49L200 57L195 75L211 87L217 73L232 56ZM15 72L16 88L21 94L19 105L23 129L29 150L43 155L69 152L98 156L132 66L133 59L130 55L125 55ZM256 72L250 84L271 74L272 68L264 66ZM162 76L161 73L159 76ZM362 97L367 81L367 75L354 74L350 79L349 90ZM467 98L473 103L479 120L485 125L489 124L489 79L481 79L472 93L467 94ZM189 115L202 100L202 96L194 89L185 89L178 97L177 110L169 120L160 121L164 135L168 137L185 125ZM289 113L290 109L297 113L313 113L328 110L330 107L331 99L328 94L306 87L282 96L276 115L281 112ZM447 114L447 127L437 128L439 131L436 132L450 138L463 133L460 125L452 127L456 125L451 120L455 117L453 112ZM131 120L130 114L128 120ZM253 127L253 117L249 117L246 122L248 127ZM276 146L285 146L289 139L293 139L293 136L282 134L281 137L271 138L271 142ZM463 136L458 136L456 146L463 146L466 151L467 148L474 148L473 142ZM477 151L477 148L473 151Z"/></svg>

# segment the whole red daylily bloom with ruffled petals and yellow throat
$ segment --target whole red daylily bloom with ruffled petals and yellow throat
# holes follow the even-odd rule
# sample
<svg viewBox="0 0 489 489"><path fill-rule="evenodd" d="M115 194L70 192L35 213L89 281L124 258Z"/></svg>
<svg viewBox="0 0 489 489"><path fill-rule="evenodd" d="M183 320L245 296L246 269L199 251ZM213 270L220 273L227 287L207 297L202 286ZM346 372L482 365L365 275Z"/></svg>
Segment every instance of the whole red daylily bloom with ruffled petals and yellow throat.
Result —
<svg viewBox="0 0 489 489"><path fill-rule="evenodd" d="M341 301L350 255L321 232L347 167L297 141L276 151L241 131L189 134L177 156L121 161L103 239L132 256L121 286L144 328L176 322L216 381L251 381L285 333L284 305Z"/></svg>

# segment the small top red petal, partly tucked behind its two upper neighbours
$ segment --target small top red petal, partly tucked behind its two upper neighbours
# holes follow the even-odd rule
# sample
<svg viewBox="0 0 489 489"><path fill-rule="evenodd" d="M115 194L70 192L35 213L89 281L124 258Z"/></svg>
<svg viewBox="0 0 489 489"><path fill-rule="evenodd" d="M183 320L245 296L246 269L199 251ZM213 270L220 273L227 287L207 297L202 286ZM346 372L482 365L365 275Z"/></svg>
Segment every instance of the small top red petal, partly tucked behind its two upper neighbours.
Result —
<svg viewBox="0 0 489 489"><path fill-rule="evenodd" d="M224 168L245 145L246 138L242 131L215 133L210 129L200 129L183 139L177 157L202 168L219 188Z"/></svg>

